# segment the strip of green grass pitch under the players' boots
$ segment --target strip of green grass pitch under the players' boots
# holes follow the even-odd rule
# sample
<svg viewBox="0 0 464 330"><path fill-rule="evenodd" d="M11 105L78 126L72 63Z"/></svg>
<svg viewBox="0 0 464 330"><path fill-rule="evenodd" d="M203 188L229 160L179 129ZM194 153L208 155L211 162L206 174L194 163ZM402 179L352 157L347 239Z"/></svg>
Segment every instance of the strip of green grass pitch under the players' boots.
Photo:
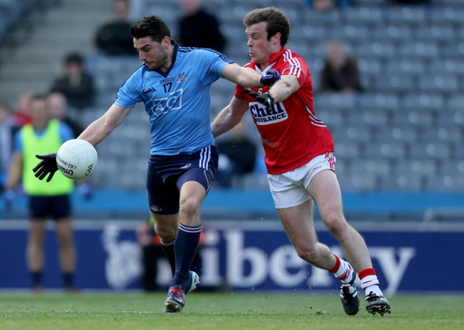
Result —
<svg viewBox="0 0 464 330"><path fill-rule="evenodd" d="M164 293L0 294L0 329L272 330L464 329L464 295L397 295L392 314L343 312L334 294L193 292L178 314L163 314Z"/></svg>

